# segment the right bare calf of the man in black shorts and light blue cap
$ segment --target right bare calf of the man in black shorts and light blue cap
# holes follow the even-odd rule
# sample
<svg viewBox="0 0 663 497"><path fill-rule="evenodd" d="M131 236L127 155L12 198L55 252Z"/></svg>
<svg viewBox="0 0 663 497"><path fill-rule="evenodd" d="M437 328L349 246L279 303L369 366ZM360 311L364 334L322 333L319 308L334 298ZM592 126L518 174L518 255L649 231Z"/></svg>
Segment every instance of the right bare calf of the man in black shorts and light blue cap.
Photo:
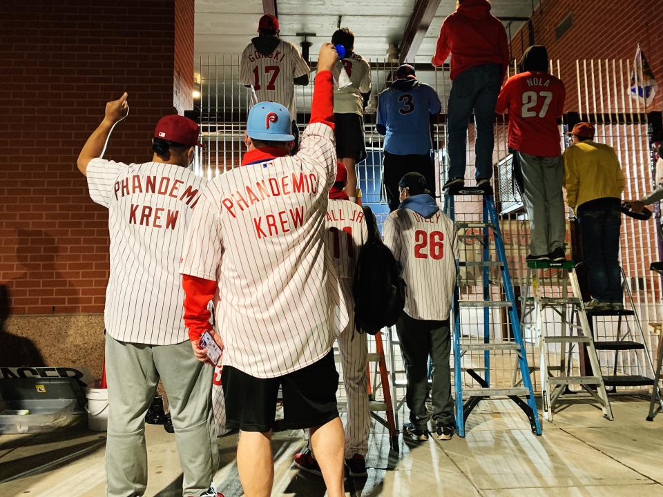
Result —
<svg viewBox="0 0 663 497"><path fill-rule="evenodd" d="M345 495L343 487L345 435L343 434L343 423L340 422L340 418L335 418L321 427L311 428L309 443L314 454L316 454L320 470L323 471L327 496L343 497Z"/></svg>

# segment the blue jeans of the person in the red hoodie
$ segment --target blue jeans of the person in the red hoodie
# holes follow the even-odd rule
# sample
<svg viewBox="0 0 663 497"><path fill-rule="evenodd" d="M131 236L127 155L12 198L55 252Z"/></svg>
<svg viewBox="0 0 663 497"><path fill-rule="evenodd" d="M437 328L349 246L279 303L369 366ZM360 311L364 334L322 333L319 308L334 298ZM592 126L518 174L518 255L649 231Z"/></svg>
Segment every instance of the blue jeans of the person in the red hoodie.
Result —
<svg viewBox="0 0 663 497"><path fill-rule="evenodd" d="M474 110L477 139L474 150L477 154L477 178L492 177L492 149L494 146L493 124L495 102L501 86L501 67L498 64L483 64L461 72L454 78L449 93L449 177L465 177L467 164L467 133L470 116Z"/></svg>

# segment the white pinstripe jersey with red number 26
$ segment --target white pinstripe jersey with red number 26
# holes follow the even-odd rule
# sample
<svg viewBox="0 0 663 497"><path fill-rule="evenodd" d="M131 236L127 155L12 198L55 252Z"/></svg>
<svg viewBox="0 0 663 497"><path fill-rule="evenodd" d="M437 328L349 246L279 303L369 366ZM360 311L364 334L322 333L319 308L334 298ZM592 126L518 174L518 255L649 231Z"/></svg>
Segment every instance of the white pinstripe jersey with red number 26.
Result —
<svg viewBox="0 0 663 497"><path fill-rule="evenodd" d="M431 217L398 208L385 220L384 242L403 264L405 312L421 320L449 317L459 257L454 222L442 211Z"/></svg>

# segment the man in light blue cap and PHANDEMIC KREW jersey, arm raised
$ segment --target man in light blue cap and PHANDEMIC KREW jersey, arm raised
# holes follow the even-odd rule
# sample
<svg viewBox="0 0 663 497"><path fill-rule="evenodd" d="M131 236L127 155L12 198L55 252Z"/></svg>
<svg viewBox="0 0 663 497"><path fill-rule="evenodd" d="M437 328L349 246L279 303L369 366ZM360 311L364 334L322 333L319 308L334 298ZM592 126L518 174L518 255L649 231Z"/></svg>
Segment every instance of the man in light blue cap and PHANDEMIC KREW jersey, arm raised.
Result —
<svg viewBox="0 0 663 497"><path fill-rule="evenodd" d="M280 386L282 425L311 429L327 495L344 494L332 344L348 316L323 239L336 177L337 60L332 44L323 44L311 119L296 155L289 155L294 136L285 106L265 101L251 108L242 165L207 184L182 253L189 333L218 333L223 342L226 425L240 429L237 466L247 497L271 494Z"/></svg>

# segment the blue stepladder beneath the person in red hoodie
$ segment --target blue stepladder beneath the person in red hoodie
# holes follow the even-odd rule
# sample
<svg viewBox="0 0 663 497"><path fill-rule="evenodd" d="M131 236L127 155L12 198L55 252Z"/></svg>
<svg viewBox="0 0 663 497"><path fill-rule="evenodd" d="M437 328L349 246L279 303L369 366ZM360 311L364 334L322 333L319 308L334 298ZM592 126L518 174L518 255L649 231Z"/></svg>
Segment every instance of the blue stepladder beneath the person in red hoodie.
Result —
<svg viewBox="0 0 663 497"><path fill-rule="evenodd" d="M479 220L456 220L455 195L480 195L483 216ZM461 437L465 436L465 421L481 400L509 398L526 414L532 432L541 435L541 422L537 413L515 294L492 189L486 188L484 191L480 188L457 188L450 195L445 195L445 211L452 220L456 221L459 242L465 240L467 243L468 240L473 240L481 244L481 260L470 261L467 260L468 257L462 260L463 255L461 254L458 284L454 291L452 311L457 433ZM494 240L497 261L490 260L491 239ZM476 280L463 278L461 270L464 270L467 275L470 273L468 269L472 269L472 266L480 269L481 277ZM493 284L491 268L499 270L501 286ZM472 289L478 289L480 292L472 294ZM495 298L496 296L497 298ZM491 320L495 313L501 314L501 318L494 320L494 324L501 334L501 340L494 338L498 331L491 327ZM472 322L473 320L474 322ZM477 336L472 336L473 329L477 331L483 329L483 333L479 332ZM512 377L508 380L503 379L499 384L499 378L491 378L491 364L498 363L499 360L502 361L502 364L512 364L514 355L521 373L522 386L516 387L512 382ZM471 387L463 386L463 371L472 378ZM477 371L483 371L483 376ZM497 369L495 373L497 377Z"/></svg>

